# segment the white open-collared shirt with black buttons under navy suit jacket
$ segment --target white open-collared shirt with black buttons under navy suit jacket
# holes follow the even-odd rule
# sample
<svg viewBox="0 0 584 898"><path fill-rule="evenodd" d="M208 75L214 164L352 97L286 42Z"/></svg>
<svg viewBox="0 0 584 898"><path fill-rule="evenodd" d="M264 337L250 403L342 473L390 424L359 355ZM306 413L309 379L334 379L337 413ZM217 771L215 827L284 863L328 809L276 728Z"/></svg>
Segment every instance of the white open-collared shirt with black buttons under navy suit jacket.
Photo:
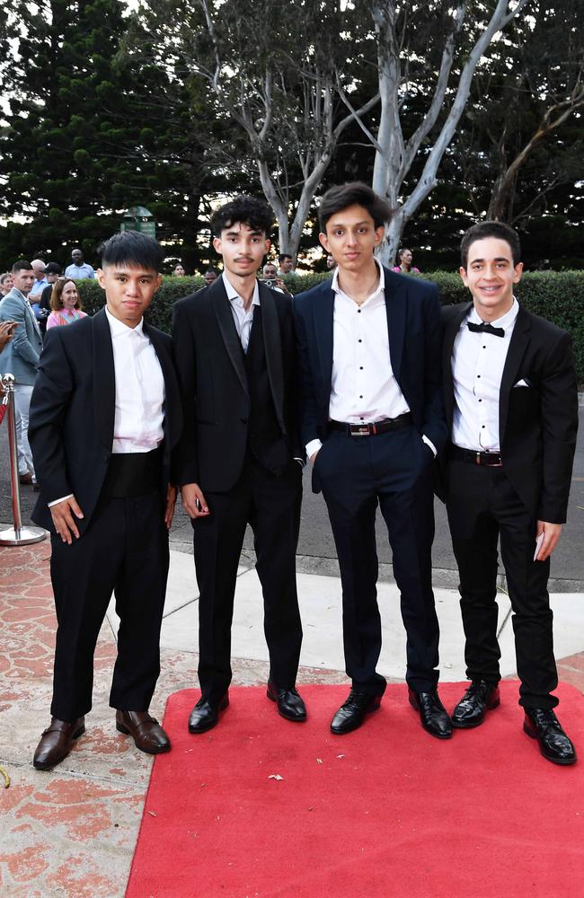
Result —
<svg viewBox="0 0 584 898"><path fill-rule="evenodd" d="M384 269L376 260L379 282L358 305L339 286L339 269L332 276L332 381L329 418L345 424L370 424L398 418L410 411L395 380L389 355L385 308ZM432 452L434 446L422 437ZM310 458L322 446L319 439L306 444Z"/></svg>

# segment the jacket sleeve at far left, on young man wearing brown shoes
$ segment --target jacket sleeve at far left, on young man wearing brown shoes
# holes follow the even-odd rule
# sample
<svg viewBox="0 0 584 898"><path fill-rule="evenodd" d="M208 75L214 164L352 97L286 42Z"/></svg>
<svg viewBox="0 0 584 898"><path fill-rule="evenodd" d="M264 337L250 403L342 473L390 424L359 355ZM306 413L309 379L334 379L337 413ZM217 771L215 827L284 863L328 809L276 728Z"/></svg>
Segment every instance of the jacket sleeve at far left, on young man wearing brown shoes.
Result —
<svg viewBox="0 0 584 898"><path fill-rule="evenodd" d="M29 443L42 497L52 502L73 492L67 478L63 427L73 374L61 328L47 334L31 395Z"/></svg>

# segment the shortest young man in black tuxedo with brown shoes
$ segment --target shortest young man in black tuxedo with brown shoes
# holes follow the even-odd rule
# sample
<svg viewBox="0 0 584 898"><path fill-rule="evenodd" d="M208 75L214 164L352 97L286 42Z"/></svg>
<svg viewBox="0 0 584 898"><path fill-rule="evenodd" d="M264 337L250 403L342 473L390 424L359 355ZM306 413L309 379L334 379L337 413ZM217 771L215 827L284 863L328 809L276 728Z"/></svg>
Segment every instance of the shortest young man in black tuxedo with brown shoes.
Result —
<svg viewBox="0 0 584 898"><path fill-rule="evenodd" d="M105 308L49 330L40 357L29 425L40 482L32 519L51 533L58 630L38 770L63 761L84 733L93 651L112 592L120 619L110 695L117 729L143 752L171 747L148 714L176 497L171 450L181 431L172 340L143 319L163 260L151 237L114 234L98 271Z"/></svg>

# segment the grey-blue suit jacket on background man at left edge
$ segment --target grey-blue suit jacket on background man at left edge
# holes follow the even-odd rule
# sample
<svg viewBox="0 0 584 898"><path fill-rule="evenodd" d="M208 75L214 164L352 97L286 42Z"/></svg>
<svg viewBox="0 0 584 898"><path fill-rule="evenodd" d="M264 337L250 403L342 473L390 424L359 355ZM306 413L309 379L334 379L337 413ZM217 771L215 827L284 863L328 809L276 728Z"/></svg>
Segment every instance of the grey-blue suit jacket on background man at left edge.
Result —
<svg viewBox="0 0 584 898"><path fill-rule="evenodd" d="M16 383L32 386L37 377L42 337L35 326L28 299L12 289L0 302L0 321L18 321L13 339L0 353L0 373L13 374Z"/></svg>

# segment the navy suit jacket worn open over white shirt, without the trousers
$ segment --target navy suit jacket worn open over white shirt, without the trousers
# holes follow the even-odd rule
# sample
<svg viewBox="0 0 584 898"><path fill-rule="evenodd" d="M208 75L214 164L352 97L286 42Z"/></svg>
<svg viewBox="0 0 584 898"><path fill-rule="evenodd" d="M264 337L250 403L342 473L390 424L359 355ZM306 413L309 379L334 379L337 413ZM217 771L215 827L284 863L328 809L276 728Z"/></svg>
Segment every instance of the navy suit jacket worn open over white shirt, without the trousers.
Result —
<svg viewBox="0 0 584 898"><path fill-rule="evenodd" d="M434 284L384 268L389 358L414 427L438 453L447 441L440 381L440 306ZM332 381L332 280L296 296L305 444L327 435Z"/></svg>

